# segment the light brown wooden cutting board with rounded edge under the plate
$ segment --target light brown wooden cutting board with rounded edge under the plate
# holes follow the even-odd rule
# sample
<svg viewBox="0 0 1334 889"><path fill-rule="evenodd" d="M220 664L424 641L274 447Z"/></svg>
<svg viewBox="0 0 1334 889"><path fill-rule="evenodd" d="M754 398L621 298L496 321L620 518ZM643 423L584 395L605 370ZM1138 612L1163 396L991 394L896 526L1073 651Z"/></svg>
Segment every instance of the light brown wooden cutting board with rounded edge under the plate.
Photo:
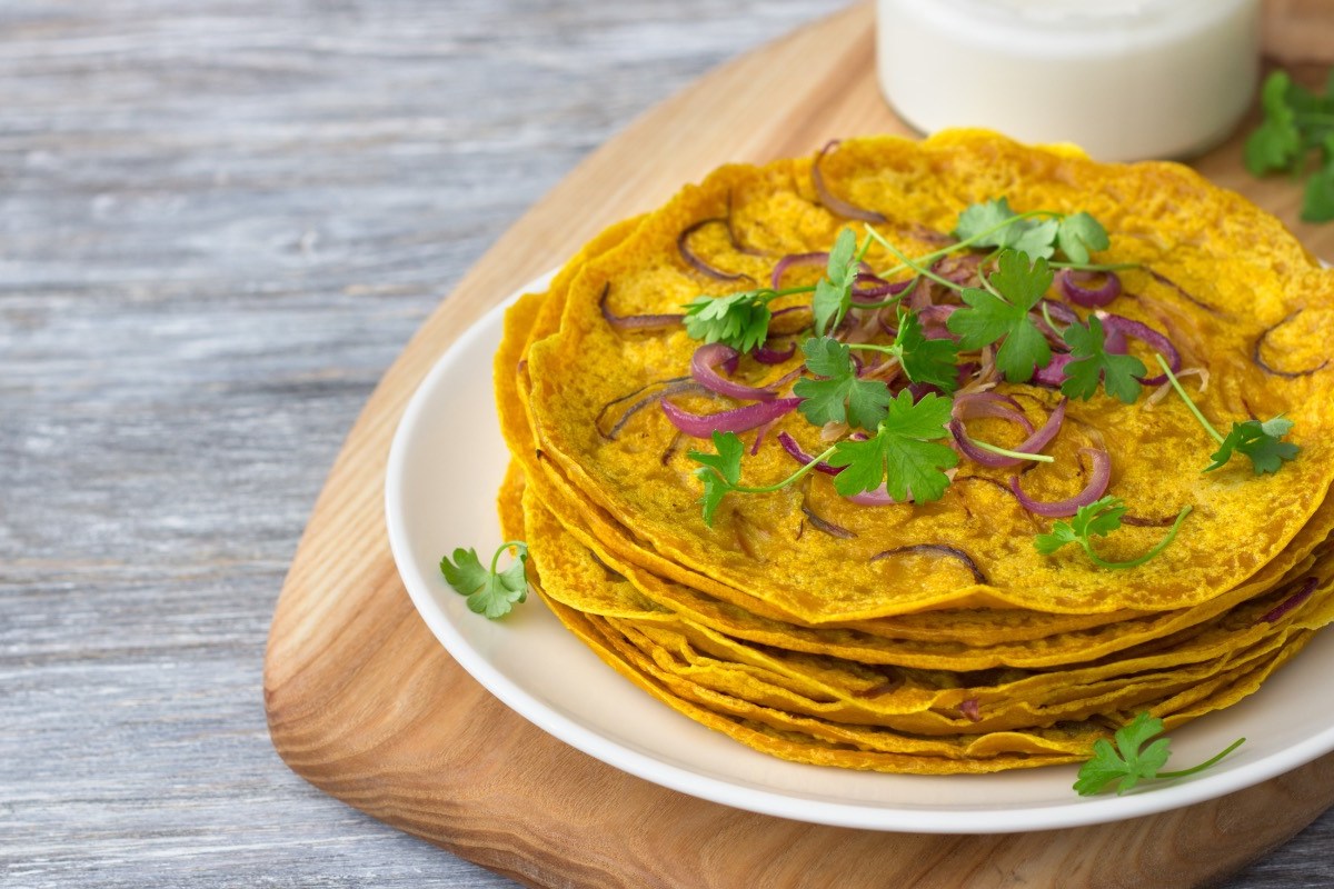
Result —
<svg viewBox="0 0 1334 889"><path fill-rule="evenodd" d="M317 788L532 886L1182 886L1217 880L1334 805L1334 756L1222 800L1109 826L936 837L816 826L664 790L551 738L472 681L399 581L383 516L408 397L474 320L608 223L724 161L910 132L874 79L856 5L708 75L603 145L502 237L386 373L311 516L273 616L273 745ZM1258 183L1234 139L1198 163L1297 223L1299 187Z"/></svg>

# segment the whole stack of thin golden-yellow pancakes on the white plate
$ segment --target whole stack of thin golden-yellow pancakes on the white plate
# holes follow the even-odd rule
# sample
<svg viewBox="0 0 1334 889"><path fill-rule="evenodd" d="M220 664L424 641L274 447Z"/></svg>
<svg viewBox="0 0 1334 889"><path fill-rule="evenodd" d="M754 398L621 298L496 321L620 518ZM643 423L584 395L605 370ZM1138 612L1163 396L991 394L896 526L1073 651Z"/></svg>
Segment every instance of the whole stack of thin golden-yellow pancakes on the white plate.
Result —
<svg viewBox="0 0 1334 889"><path fill-rule="evenodd" d="M695 413L743 403L683 384L700 344L682 325L628 329L608 316L679 315L699 296L767 284L782 257L828 251L843 228L860 236L862 223L822 205L811 167L722 168L599 235L506 317L495 380L514 461L502 521L528 544L534 589L607 664L787 760L991 772L1087 758L1142 710L1171 728L1234 704L1334 620L1334 368L1323 367L1334 272L1183 167L1097 164L976 131L854 140L820 169L910 256L938 249L962 209L995 197L1094 215L1111 236L1097 261L1137 265L1121 272L1111 311L1166 333L1205 372L1191 395L1214 425L1285 415L1299 456L1273 474L1239 456L1203 473L1215 445L1175 395L1070 401L1045 450L1054 462L1023 474L1030 496L1075 494L1079 449L1105 448L1107 493L1134 522L1098 541L1110 560L1145 552L1193 506L1162 554L1127 570L1077 546L1039 554L1034 536L1053 522L1017 501L1014 470L967 460L935 502L859 505L812 473L730 494L707 525L688 452L712 444L684 437L658 401ZM683 233L715 273L688 260ZM819 275L794 269L784 284ZM808 304L794 295L772 308ZM735 379L790 385L802 360L799 349L780 365L743 357ZM1035 424L1061 397L1030 384L995 391ZM1014 435L988 420L970 429L998 444ZM780 432L807 453L828 435L796 412L743 433L744 484L796 468Z"/></svg>

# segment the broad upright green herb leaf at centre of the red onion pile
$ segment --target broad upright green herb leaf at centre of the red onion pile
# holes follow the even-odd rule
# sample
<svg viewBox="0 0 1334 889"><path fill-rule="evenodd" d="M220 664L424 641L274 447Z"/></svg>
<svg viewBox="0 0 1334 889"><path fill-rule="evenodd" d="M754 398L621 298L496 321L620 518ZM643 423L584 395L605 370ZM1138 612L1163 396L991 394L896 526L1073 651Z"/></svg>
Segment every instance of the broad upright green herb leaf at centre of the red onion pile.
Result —
<svg viewBox="0 0 1334 889"><path fill-rule="evenodd" d="M1029 312L1051 287L1053 273L1047 260L1038 257L1031 265L1027 253L1005 251L990 283L996 293L975 287L960 293L968 308L956 311L946 321L951 333L959 335L959 348L982 349L1005 340L996 352L996 367L1011 383L1027 383L1033 372L1051 363L1051 347Z"/></svg>

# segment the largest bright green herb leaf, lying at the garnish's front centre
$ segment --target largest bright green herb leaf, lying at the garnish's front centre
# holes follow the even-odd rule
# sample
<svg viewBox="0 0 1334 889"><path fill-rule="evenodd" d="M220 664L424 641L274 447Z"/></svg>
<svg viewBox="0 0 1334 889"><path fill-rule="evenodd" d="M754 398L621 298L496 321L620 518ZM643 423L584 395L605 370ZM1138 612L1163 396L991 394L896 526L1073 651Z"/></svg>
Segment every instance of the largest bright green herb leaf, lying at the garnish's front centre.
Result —
<svg viewBox="0 0 1334 889"><path fill-rule="evenodd" d="M936 444L948 435L947 423L948 399L927 395L914 404L907 389L899 392L872 437L847 439L835 445L828 462L846 469L834 476L834 488L847 497L875 490L883 482L900 502L939 500L950 484L942 469L959 462L958 453Z"/></svg>

